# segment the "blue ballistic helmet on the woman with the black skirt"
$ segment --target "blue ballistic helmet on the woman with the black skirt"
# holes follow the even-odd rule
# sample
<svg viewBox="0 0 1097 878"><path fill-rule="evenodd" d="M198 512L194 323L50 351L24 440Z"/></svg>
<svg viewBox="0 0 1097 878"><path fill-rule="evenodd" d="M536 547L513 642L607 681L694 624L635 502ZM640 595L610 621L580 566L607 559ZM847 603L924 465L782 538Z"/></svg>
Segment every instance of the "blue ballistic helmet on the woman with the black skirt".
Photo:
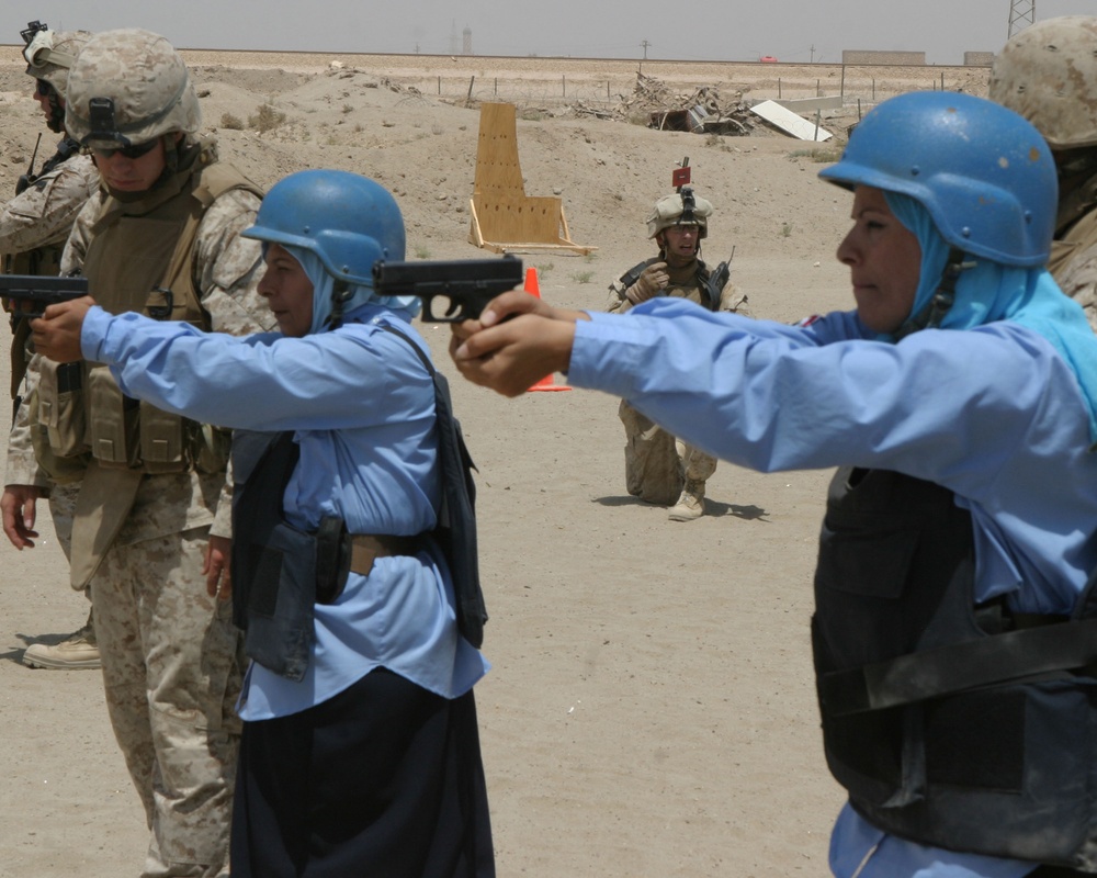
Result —
<svg viewBox="0 0 1097 878"><path fill-rule="evenodd" d="M352 285L373 286L373 263L403 260L404 217L388 190L350 171L291 173L263 199L244 233L319 257L325 270Z"/></svg>

